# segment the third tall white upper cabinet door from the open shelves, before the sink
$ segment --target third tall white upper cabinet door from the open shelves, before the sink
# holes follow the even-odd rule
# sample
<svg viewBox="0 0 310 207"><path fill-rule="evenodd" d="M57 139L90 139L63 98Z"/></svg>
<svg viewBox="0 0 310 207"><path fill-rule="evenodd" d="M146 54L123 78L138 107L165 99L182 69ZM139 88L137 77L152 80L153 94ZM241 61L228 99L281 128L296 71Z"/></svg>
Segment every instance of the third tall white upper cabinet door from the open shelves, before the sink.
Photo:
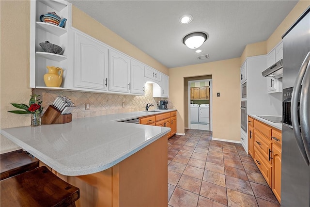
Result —
<svg viewBox="0 0 310 207"><path fill-rule="evenodd" d="M130 60L130 93L144 94L144 64Z"/></svg>

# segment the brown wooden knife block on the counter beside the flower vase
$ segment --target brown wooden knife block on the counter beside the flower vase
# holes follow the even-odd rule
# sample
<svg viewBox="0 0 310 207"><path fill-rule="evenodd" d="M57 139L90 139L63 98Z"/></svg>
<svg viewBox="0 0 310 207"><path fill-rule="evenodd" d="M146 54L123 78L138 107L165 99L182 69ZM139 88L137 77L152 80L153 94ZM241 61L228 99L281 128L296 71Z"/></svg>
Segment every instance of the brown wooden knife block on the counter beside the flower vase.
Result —
<svg viewBox="0 0 310 207"><path fill-rule="evenodd" d="M61 114L53 106L49 105L41 118L42 124L64 124L72 121L72 114Z"/></svg>

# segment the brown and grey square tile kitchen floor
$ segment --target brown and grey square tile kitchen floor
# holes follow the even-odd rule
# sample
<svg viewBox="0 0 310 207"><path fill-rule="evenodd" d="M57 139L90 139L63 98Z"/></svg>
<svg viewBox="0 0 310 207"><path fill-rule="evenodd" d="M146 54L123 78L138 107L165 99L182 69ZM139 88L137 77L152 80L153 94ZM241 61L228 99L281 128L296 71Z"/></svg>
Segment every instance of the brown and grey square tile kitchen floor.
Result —
<svg viewBox="0 0 310 207"><path fill-rule="evenodd" d="M189 129L168 140L169 207L279 207L241 144Z"/></svg>

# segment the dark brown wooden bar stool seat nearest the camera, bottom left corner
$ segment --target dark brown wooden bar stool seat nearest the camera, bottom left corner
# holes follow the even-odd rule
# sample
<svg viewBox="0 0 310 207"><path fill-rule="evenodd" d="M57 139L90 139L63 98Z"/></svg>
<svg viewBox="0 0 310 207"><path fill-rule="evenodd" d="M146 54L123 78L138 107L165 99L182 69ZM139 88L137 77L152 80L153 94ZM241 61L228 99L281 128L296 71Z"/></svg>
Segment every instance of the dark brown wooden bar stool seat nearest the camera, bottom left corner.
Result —
<svg viewBox="0 0 310 207"><path fill-rule="evenodd" d="M75 207L79 189L42 166L1 180L1 207Z"/></svg>

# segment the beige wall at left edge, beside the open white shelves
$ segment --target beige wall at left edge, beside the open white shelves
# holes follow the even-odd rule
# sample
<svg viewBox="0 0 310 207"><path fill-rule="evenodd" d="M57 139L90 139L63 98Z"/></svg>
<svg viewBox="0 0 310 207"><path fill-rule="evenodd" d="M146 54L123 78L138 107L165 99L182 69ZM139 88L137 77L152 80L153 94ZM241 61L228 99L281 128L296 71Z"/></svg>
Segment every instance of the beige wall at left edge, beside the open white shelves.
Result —
<svg viewBox="0 0 310 207"><path fill-rule="evenodd" d="M14 14L14 15L13 15ZM0 1L1 128L29 126L30 114L13 114L10 103L29 103L30 1ZM19 148L1 135L1 153Z"/></svg>

